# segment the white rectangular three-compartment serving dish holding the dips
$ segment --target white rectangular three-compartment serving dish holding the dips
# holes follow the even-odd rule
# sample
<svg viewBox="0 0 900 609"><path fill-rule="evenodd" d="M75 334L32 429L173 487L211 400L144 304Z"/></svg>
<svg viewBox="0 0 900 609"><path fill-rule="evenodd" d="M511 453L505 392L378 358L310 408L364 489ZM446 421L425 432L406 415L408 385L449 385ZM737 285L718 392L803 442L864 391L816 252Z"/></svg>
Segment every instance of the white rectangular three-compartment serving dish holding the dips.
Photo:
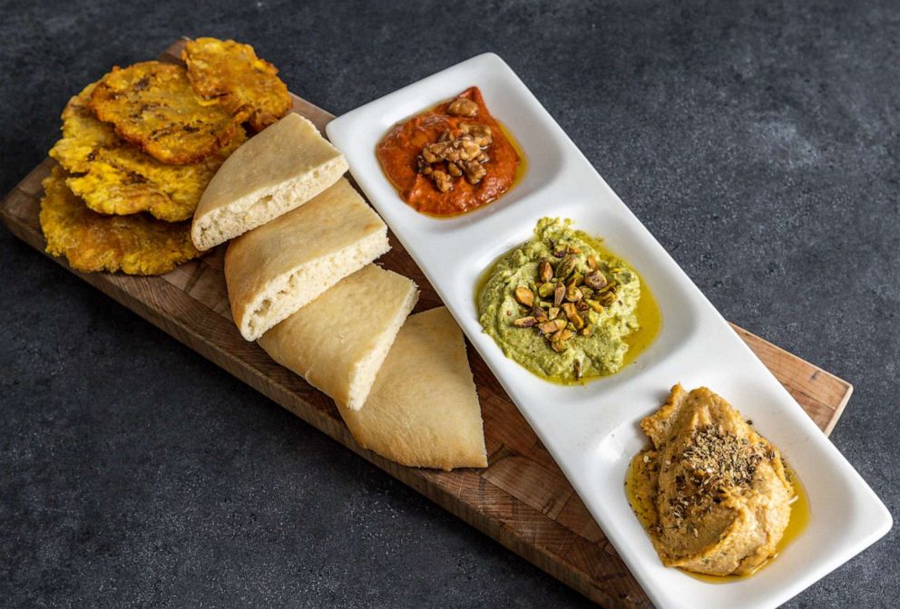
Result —
<svg viewBox="0 0 900 609"><path fill-rule="evenodd" d="M522 145L522 182L491 205L439 219L416 212L375 156L394 124L470 86ZM892 526L875 493L631 214L504 61L478 55L331 121L328 137L396 237L422 268L572 487L660 609L775 607L874 543ZM497 256L532 236L538 219L572 218L635 267L657 296L662 329L622 372L582 386L545 382L482 333L474 289ZM778 446L807 490L809 525L757 575L712 585L663 566L625 498L638 427L669 388L708 386Z"/></svg>

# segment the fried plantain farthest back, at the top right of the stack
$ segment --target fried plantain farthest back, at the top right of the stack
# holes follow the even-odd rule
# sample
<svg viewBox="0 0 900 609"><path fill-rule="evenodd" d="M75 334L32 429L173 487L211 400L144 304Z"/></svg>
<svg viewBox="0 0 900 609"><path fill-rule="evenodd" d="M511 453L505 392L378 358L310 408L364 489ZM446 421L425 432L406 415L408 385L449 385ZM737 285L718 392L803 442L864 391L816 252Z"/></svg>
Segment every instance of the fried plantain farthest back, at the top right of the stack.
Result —
<svg viewBox="0 0 900 609"><path fill-rule="evenodd" d="M249 110L250 127L262 131L290 111L288 87L271 63L257 57L249 44L197 38L181 52L194 90L218 99L230 111Z"/></svg>

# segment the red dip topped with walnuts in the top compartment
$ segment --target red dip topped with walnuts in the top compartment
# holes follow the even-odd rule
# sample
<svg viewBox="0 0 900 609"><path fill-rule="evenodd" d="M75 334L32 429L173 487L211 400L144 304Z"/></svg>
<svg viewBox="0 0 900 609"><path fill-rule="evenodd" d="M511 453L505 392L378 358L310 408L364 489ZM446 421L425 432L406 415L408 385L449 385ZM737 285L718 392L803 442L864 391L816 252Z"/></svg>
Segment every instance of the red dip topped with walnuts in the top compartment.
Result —
<svg viewBox="0 0 900 609"><path fill-rule="evenodd" d="M430 216L456 216L500 197L521 161L478 87L396 125L376 154L403 200Z"/></svg>

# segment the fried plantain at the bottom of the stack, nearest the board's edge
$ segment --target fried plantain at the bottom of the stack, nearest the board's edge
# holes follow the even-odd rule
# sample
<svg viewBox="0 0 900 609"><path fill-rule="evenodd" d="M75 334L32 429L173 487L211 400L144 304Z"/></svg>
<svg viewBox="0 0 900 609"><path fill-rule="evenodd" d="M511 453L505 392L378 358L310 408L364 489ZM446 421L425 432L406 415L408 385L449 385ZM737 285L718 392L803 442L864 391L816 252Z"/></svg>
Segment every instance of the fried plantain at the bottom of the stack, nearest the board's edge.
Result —
<svg viewBox="0 0 900 609"><path fill-rule="evenodd" d="M44 179L40 219L47 253L65 256L74 269L161 275L201 255L191 244L190 223L144 214L103 216L88 209L65 179L59 166Z"/></svg>

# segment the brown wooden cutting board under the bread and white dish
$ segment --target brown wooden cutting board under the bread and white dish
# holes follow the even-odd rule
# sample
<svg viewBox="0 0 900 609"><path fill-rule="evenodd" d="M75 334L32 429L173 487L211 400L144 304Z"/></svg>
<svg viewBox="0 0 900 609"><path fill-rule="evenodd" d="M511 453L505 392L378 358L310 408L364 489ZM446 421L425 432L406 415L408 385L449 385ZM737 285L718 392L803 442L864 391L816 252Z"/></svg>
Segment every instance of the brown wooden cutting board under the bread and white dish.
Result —
<svg viewBox="0 0 900 609"><path fill-rule="evenodd" d="M181 44L172 45L163 57L177 57ZM334 118L296 96L294 111L316 123L323 133ZM0 204L6 226L40 252L44 252L38 221L41 180L53 166L53 160L44 160ZM380 262L420 286L416 311L441 304L393 236L391 245ZM396 465L360 449L327 396L273 362L256 343L240 337L231 322L223 254L224 247L219 247L157 277L72 272L597 604L629 609L651 606L550 453L473 349L469 349L469 360L482 404L490 466L441 472ZM68 268L64 258L55 261ZM852 386L746 330L735 326L735 331L817 425L830 433ZM671 381L660 380L660 396Z"/></svg>

